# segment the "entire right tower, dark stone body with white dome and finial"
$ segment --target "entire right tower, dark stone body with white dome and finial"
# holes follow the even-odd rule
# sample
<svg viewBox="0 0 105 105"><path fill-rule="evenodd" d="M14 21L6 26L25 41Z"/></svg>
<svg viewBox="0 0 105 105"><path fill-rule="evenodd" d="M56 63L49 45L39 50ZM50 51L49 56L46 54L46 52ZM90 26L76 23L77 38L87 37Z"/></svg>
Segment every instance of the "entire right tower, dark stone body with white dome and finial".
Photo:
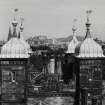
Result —
<svg viewBox="0 0 105 105"><path fill-rule="evenodd" d="M88 105L89 103L92 105L102 105L102 71L105 56L101 46L94 41L90 34L91 23L89 16L91 12L91 10L86 11L87 31L85 39L76 47L78 105Z"/></svg>

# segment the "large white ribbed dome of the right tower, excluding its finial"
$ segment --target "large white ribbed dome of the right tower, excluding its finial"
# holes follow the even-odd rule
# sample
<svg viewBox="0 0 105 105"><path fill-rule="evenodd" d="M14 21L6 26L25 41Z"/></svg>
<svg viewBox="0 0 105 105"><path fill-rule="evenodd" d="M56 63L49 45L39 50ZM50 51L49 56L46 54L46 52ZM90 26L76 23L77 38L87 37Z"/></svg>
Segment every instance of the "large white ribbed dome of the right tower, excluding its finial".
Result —
<svg viewBox="0 0 105 105"><path fill-rule="evenodd" d="M78 57L104 57L101 46L93 38L86 38L76 49Z"/></svg>

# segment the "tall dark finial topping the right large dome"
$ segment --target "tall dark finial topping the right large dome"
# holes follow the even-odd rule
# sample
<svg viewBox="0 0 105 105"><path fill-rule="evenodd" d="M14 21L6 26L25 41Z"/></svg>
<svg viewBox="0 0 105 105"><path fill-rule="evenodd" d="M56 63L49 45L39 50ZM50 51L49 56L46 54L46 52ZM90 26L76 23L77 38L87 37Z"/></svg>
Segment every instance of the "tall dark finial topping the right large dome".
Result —
<svg viewBox="0 0 105 105"><path fill-rule="evenodd" d="M90 38L91 37L91 34L90 34L90 25L91 25L90 14L92 13L92 10L87 10L86 13L87 13L87 22L86 22L87 32L86 32L85 38Z"/></svg>

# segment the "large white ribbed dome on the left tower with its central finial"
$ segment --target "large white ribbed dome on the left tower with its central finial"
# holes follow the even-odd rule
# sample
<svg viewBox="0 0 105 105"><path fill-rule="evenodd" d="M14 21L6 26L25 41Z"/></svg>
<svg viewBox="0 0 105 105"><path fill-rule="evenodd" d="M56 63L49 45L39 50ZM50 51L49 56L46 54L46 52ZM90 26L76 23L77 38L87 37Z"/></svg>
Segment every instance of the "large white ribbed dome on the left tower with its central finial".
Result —
<svg viewBox="0 0 105 105"><path fill-rule="evenodd" d="M14 17L14 20L12 21L12 26L13 26L12 37L6 44L4 44L1 47L0 58L28 58L29 57L29 54L27 53L25 46L17 37L17 32L16 32L17 25L18 25L18 22Z"/></svg>

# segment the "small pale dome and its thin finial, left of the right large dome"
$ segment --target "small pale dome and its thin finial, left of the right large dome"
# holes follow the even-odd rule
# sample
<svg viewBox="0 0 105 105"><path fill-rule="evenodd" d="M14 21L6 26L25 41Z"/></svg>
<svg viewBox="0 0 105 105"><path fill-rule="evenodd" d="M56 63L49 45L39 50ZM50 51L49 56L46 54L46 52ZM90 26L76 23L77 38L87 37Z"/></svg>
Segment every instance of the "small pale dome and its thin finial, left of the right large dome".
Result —
<svg viewBox="0 0 105 105"><path fill-rule="evenodd" d="M76 22L77 19L74 19L74 22ZM75 53L75 48L76 46L79 44L76 35L75 35L75 31L77 30L77 28L75 27L75 24L73 25L72 31L73 31L73 39L72 41L68 44L68 49L66 53Z"/></svg>

